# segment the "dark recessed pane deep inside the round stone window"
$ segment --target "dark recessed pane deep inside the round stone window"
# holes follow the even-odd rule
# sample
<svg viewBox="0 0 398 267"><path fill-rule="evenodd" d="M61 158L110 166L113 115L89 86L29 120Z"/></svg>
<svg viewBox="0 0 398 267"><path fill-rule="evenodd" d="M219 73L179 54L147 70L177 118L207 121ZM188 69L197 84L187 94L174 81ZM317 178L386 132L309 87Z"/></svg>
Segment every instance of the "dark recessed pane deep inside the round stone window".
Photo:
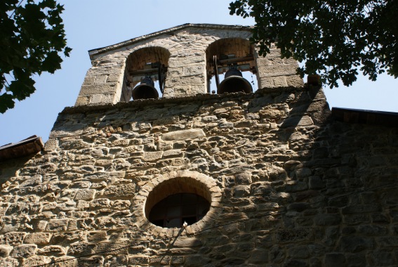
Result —
<svg viewBox="0 0 398 267"><path fill-rule="evenodd" d="M191 225L202 219L210 203L200 195L180 193L169 195L154 205L150 211L150 222L154 225L180 228L184 223Z"/></svg>

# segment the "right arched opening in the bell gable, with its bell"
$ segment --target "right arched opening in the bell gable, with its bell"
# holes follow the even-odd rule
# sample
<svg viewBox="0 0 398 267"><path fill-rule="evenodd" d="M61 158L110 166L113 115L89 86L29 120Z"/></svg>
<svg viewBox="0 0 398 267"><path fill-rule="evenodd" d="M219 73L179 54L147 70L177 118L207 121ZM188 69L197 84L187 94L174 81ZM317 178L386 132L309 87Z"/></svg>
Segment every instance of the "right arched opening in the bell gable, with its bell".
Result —
<svg viewBox="0 0 398 267"><path fill-rule="evenodd" d="M206 50L208 93L251 93L257 89L253 45L241 38L219 39ZM224 74L224 75L223 75Z"/></svg>

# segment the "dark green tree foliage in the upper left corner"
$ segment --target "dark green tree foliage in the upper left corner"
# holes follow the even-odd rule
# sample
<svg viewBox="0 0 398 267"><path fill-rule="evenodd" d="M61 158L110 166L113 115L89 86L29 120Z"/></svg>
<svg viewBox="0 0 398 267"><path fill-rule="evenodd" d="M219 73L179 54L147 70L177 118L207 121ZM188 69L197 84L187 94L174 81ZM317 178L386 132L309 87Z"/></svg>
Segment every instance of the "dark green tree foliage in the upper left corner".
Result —
<svg viewBox="0 0 398 267"><path fill-rule="evenodd" d="M55 0L0 1L1 113L36 90L35 74L60 69L59 53L69 56L62 11Z"/></svg>

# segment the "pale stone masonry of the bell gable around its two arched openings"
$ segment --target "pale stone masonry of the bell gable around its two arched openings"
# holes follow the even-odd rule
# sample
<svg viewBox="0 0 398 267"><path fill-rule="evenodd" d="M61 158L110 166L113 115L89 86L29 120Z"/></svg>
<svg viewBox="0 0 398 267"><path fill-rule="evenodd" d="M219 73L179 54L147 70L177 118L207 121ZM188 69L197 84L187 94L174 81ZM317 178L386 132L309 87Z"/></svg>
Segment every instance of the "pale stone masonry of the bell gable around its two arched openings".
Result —
<svg viewBox="0 0 398 267"><path fill-rule="evenodd" d="M93 67L86 74L75 105L128 102L131 98L131 89L137 83L132 83L130 89L126 86L125 76L128 67L126 60L131 54L147 48L153 49L143 53L147 58L138 58L137 65L143 65L142 60L147 60L147 63L152 62L153 57L150 53L155 48L165 49L170 53L168 62L165 63L168 70L164 98L206 93L207 48L220 39L247 40L249 37L251 37L251 27L189 24L91 51ZM233 44L234 41L232 46ZM244 47L237 44L236 51L232 49L229 52L239 55L244 50ZM258 88L303 86L303 80L296 74L298 67L296 60L282 60L277 48L271 48L271 53L266 58L259 57L256 49L252 52L256 58L254 61L258 72ZM246 56L246 53L242 55ZM161 55L158 56L160 61L161 58ZM131 63L134 64L135 62Z"/></svg>

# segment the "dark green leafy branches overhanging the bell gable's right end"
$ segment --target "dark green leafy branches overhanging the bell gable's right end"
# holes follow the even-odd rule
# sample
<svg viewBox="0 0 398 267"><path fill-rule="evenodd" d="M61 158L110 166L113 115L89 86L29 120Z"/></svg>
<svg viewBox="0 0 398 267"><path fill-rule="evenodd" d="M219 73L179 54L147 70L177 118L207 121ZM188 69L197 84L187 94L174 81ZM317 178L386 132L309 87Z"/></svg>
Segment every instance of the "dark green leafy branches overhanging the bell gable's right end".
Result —
<svg viewBox="0 0 398 267"><path fill-rule="evenodd" d="M282 58L305 62L304 74L350 86L358 71L375 81L378 74L398 77L397 0L237 0L230 14L253 17L251 41L260 55L275 43Z"/></svg>

